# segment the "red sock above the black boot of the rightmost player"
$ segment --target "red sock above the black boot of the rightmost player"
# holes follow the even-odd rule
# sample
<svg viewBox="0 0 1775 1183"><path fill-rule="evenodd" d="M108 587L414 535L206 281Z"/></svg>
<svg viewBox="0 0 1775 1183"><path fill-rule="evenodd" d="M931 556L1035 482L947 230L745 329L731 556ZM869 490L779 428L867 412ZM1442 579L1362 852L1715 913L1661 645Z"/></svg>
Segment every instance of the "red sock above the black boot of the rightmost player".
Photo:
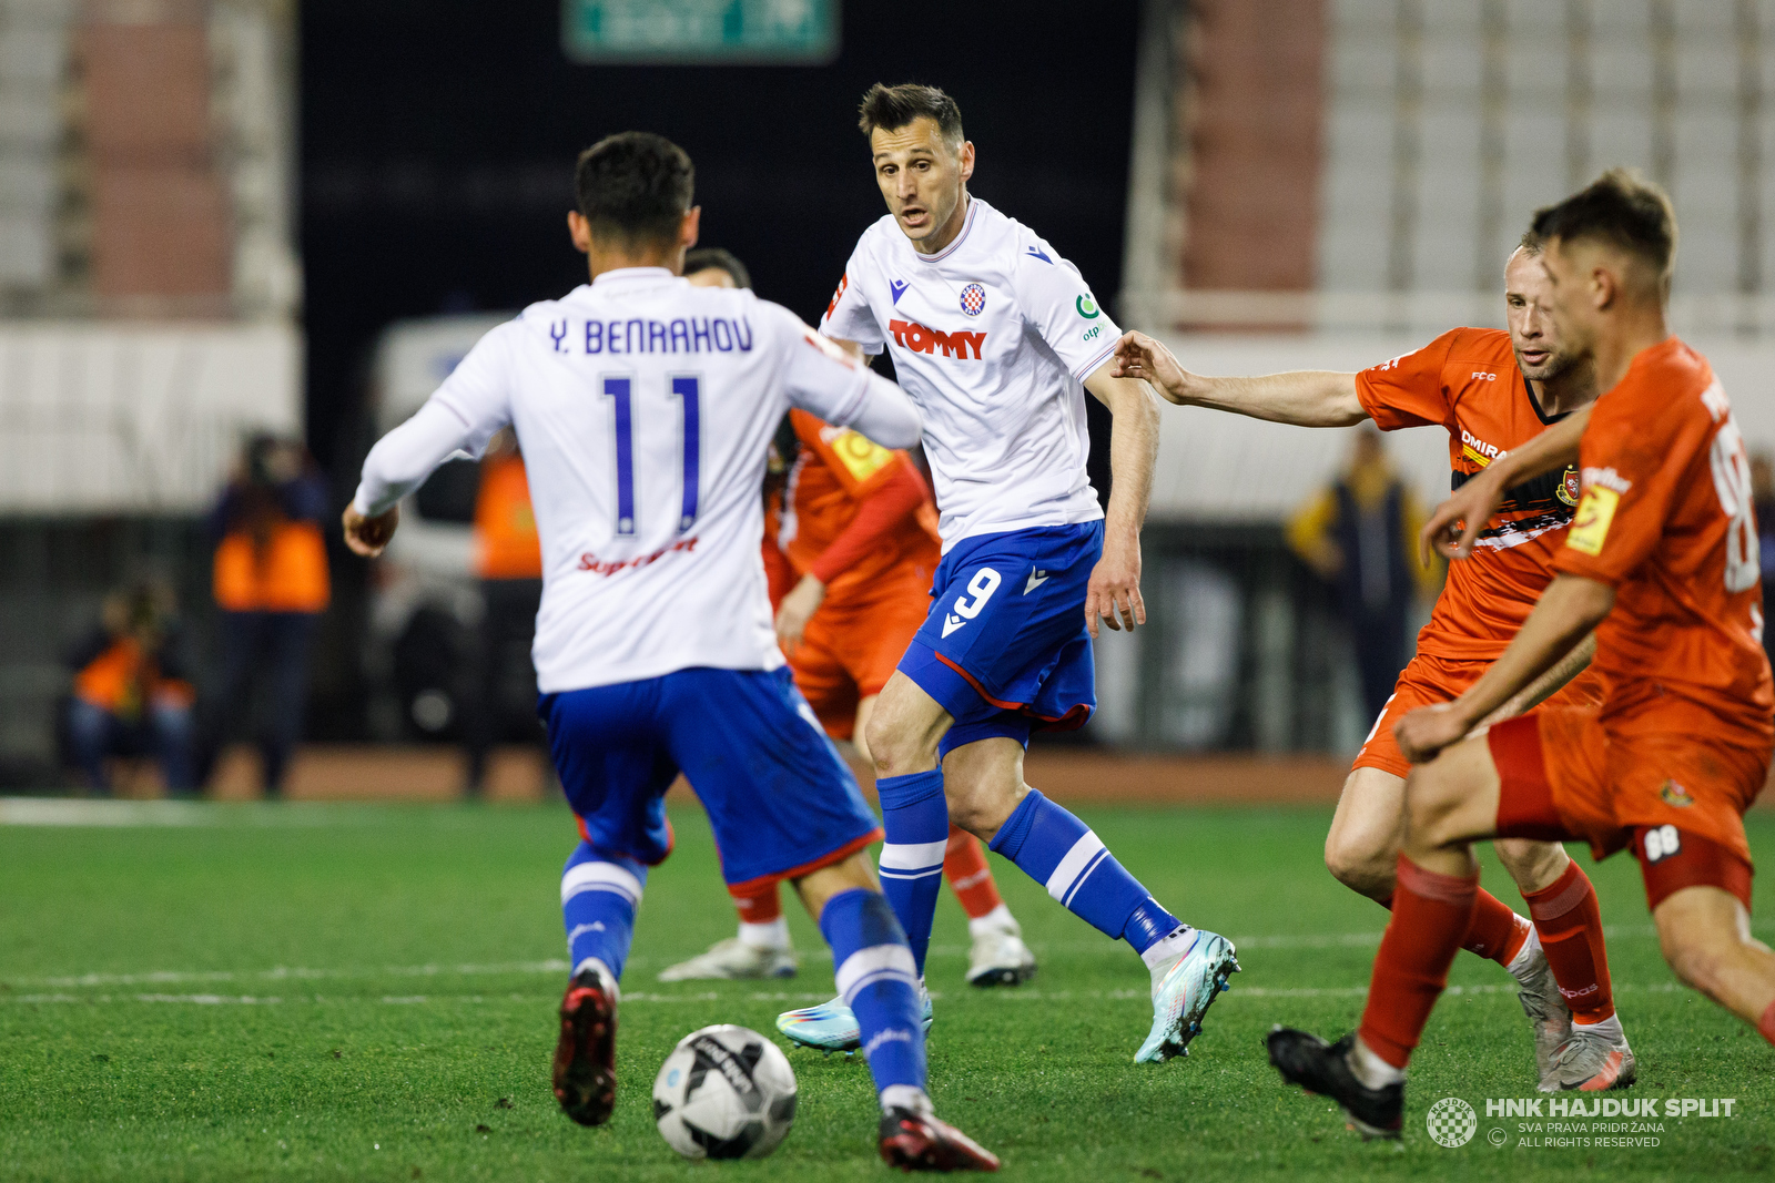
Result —
<svg viewBox="0 0 1775 1183"><path fill-rule="evenodd" d="M1418 1046L1431 1007L1448 984L1448 967L1473 924L1479 873L1436 874L1399 857L1393 919L1374 958L1369 1006L1358 1034L1369 1050L1404 1068Z"/></svg>

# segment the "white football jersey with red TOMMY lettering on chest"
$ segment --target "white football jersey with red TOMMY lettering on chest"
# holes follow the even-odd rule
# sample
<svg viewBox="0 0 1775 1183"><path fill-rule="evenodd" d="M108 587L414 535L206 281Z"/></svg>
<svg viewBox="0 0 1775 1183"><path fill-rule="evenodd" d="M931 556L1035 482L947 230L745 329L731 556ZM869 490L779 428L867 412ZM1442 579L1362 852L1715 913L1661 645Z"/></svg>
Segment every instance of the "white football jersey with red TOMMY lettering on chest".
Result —
<svg viewBox="0 0 1775 1183"><path fill-rule="evenodd" d="M1122 332L1030 227L974 197L957 239L921 255L886 215L857 241L820 332L891 349L925 420L944 550L1102 518L1081 383Z"/></svg>

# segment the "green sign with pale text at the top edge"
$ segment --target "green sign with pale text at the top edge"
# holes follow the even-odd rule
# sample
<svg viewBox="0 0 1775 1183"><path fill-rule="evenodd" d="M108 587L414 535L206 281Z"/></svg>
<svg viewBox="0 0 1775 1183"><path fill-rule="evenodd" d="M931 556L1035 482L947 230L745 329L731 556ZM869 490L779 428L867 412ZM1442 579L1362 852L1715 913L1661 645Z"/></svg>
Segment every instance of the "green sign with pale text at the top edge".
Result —
<svg viewBox="0 0 1775 1183"><path fill-rule="evenodd" d="M776 62L838 57L840 0L561 0L575 62Z"/></svg>

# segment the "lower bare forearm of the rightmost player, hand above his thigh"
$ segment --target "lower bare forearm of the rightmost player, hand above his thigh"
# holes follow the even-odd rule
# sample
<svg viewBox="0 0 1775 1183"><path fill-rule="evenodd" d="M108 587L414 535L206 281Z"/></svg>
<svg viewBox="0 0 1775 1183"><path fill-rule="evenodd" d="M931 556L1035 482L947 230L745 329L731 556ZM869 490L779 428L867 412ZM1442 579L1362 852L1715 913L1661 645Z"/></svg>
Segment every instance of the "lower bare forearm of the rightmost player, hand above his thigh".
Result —
<svg viewBox="0 0 1775 1183"><path fill-rule="evenodd" d="M1393 727L1406 759L1422 764L1466 738L1493 711L1551 670L1615 607L1615 589L1582 575L1558 575L1496 662L1454 702L1420 706Z"/></svg>

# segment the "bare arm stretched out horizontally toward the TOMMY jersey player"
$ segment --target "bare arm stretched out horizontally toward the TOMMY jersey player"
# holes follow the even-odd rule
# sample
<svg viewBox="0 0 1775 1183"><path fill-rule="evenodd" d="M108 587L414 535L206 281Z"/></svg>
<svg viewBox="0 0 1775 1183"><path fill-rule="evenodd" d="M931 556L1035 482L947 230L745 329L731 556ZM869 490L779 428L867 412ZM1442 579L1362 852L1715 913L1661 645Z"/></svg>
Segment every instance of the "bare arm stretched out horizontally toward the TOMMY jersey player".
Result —
<svg viewBox="0 0 1775 1183"><path fill-rule="evenodd" d="M1349 427L1369 417L1356 397L1356 374L1301 369L1258 378L1205 378L1186 371L1163 341L1122 333L1115 378L1145 378L1168 403L1207 406L1299 427Z"/></svg>

